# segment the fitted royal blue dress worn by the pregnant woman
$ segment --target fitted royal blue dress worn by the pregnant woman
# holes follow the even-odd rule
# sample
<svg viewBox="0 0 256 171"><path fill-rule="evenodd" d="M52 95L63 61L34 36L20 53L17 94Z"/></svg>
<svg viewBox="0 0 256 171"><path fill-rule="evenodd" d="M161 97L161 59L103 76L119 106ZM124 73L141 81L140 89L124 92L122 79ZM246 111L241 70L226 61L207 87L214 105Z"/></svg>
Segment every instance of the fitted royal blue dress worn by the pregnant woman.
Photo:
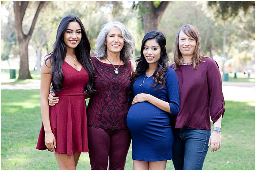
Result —
<svg viewBox="0 0 256 171"><path fill-rule="evenodd" d="M180 110L180 91L178 79L173 69L165 75L166 86L161 90L152 87L153 76L142 84L142 74L132 86L133 97L140 93L151 94L168 102L171 113L149 102L135 103L127 115L127 125L132 135L132 159L142 161L161 161L172 159L173 132L170 125L170 114L177 115ZM161 87L158 84L157 87Z"/></svg>

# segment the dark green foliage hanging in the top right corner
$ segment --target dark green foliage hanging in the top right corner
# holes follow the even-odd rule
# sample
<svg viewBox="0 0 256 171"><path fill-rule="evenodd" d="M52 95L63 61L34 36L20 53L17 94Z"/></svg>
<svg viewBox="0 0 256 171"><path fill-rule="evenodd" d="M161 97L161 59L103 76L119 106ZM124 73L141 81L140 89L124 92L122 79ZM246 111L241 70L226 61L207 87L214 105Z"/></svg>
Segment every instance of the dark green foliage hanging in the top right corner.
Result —
<svg viewBox="0 0 256 171"><path fill-rule="evenodd" d="M208 1L215 10L215 17L223 20L236 17L242 10L246 14L250 7L255 8L255 1Z"/></svg>

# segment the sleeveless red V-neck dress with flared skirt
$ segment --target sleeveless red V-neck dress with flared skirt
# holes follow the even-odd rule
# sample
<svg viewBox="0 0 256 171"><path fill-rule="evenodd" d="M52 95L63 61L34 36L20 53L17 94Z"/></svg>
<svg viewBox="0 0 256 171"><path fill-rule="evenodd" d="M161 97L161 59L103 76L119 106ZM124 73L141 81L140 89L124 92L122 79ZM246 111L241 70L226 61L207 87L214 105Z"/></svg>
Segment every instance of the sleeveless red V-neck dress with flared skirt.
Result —
<svg viewBox="0 0 256 171"><path fill-rule="evenodd" d="M88 152L86 103L84 87L89 81L89 75L83 68L77 71L66 61L63 62L63 88L56 92L59 103L49 106L50 125L56 139L59 154L73 155L74 152ZM45 146L44 125L39 133L37 148ZM49 151L49 150L48 150Z"/></svg>

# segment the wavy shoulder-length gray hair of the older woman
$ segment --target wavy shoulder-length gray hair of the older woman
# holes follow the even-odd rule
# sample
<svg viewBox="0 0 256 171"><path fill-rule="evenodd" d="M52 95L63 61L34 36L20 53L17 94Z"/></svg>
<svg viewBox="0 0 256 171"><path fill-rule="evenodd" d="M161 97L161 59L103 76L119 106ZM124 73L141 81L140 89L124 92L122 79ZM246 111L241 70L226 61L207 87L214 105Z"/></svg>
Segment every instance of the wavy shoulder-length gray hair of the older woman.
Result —
<svg viewBox="0 0 256 171"><path fill-rule="evenodd" d="M125 62L125 64L128 64L128 61L131 60L131 58L133 57L135 40L132 34L129 32L128 28L125 27L123 23L118 21L108 22L100 28L101 31L99 32L96 40L94 55L100 59L105 59L107 57L107 49L104 42L106 41L107 34L112 27L117 27L123 35L124 46L120 52L120 58L122 61Z"/></svg>

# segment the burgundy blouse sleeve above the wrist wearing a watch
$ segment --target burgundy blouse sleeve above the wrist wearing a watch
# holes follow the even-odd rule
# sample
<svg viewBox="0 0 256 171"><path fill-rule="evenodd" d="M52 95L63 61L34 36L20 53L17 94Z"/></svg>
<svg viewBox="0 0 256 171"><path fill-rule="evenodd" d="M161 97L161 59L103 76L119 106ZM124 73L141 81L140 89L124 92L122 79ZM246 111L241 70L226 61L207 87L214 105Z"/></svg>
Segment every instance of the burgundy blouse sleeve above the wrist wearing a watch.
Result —
<svg viewBox="0 0 256 171"><path fill-rule="evenodd" d="M215 123L225 112L225 101L222 93L221 73L214 60L207 67L207 83L209 86L209 109L212 122Z"/></svg>

